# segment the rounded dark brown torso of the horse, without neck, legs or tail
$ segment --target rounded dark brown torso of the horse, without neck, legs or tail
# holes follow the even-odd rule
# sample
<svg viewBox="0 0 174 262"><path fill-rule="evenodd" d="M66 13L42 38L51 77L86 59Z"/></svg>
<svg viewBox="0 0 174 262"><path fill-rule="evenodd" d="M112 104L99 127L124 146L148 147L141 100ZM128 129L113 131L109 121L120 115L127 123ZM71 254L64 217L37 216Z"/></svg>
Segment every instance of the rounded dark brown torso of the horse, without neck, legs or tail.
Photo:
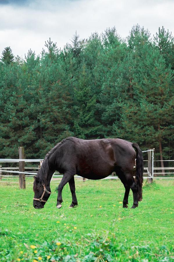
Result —
<svg viewBox="0 0 174 262"><path fill-rule="evenodd" d="M130 165L135 158L132 143L122 139L83 140L72 137L61 148L64 169L76 169L76 174L90 179L107 177L116 168L124 169Z"/></svg>

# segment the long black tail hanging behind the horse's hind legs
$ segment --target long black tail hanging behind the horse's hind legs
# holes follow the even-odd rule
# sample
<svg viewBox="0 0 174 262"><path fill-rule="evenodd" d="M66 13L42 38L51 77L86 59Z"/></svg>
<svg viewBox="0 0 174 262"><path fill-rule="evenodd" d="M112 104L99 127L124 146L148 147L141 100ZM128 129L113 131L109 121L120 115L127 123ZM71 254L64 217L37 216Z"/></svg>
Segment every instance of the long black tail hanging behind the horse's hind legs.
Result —
<svg viewBox="0 0 174 262"><path fill-rule="evenodd" d="M144 163L143 163L143 154L139 145L137 143L132 143L133 148L136 150L136 176L135 180L137 182L137 196L138 201L142 200L142 185L143 185L143 170L144 170Z"/></svg>

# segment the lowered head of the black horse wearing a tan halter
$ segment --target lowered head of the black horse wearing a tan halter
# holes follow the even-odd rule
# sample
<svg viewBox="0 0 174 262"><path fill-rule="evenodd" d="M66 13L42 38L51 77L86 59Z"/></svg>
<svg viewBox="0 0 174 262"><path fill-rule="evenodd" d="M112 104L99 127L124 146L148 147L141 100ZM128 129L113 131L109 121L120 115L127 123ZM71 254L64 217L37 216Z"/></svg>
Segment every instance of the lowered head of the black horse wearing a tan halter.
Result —
<svg viewBox="0 0 174 262"><path fill-rule="evenodd" d="M34 176L33 191L35 193L33 198L34 208L44 208L46 201L49 199L51 189L49 185L44 184L40 178Z"/></svg>

